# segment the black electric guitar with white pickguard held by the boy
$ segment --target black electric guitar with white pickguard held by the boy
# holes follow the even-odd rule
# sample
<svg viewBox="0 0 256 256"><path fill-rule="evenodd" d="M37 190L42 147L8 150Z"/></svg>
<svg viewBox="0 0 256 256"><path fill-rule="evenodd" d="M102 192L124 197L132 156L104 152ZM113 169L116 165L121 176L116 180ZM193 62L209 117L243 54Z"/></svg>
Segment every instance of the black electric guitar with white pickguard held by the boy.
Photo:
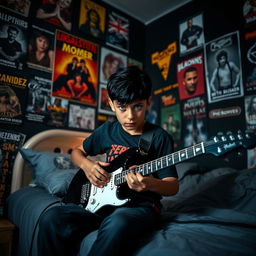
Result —
<svg viewBox="0 0 256 256"><path fill-rule="evenodd" d="M80 169L71 181L63 201L80 204L92 213L104 206L121 206L129 201L129 196L126 192L124 193L128 188L125 175L131 171L146 176L205 153L220 156L238 147L252 148L255 145L256 136L252 133L228 132L218 134L207 142L198 143L148 162L146 162L147 156L141 154L138 148L130 148L106 168L106 171L110 173L110 181L103 188L92 185ZM132 165L137 165L137 167L129 170ZM124 185L126 185L125 189Z"/></svg>

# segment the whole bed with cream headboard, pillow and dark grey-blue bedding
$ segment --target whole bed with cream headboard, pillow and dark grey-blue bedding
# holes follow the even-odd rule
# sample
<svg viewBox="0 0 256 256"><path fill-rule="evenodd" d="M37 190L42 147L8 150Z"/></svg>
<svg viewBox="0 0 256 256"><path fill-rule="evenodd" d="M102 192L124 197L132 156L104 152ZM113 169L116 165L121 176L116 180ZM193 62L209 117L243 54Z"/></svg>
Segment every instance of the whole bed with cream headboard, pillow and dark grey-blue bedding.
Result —
<svg viewBox="0 0 256 256"><path fill-rule="evenodd" d="M87 136L48 130L30 138L18 153L7 204L8 218L16 225L14 255L37 255L38 218L61 204L77 171L69 153ZM179 193L162 199L160 225L137 242L133 255L255 256L256 169L236 170L205 154L179 163L177 171ZM96 235L97 230L83 239L78 256L87 255Z"/></svg>

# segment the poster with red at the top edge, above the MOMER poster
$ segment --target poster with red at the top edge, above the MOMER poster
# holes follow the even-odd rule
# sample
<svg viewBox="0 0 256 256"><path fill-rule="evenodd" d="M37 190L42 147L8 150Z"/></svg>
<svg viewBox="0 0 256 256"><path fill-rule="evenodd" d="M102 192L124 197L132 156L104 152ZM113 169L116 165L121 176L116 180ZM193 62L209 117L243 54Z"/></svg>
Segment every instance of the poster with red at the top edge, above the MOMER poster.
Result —
<svg viewBox="0 0 256 256"><path fill-rule="evenodd" d="M71 31L72 0L39 0L35 4L35 17L37 19L43 20L57 28Z"/></svg>

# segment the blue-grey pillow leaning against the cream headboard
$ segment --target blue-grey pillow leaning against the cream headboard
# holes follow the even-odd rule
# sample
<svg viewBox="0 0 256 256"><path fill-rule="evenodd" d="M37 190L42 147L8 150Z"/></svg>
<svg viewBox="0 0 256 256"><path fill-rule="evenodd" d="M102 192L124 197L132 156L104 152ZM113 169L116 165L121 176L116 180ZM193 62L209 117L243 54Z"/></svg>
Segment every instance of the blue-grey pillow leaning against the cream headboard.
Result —
<svg viewBox="0 0 256 256"><path fill-rule="evenodd" d="M50 194L63 196L78 171L68 154L40 152L33 149L19 149L25 162L31 169L30 186L45 188Z"/></svg>

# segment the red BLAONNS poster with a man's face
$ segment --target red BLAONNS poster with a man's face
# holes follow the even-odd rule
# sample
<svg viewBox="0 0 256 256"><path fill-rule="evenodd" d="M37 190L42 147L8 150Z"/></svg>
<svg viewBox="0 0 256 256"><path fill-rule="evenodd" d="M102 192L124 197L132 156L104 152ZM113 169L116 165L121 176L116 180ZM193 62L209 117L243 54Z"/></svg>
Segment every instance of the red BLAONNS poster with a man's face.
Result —
<svg viewBox="0 0 256 256"><path fill-rule="evenodd" d="M181 100L205 93L203 54L177 64L179 97Z"/></svg>

